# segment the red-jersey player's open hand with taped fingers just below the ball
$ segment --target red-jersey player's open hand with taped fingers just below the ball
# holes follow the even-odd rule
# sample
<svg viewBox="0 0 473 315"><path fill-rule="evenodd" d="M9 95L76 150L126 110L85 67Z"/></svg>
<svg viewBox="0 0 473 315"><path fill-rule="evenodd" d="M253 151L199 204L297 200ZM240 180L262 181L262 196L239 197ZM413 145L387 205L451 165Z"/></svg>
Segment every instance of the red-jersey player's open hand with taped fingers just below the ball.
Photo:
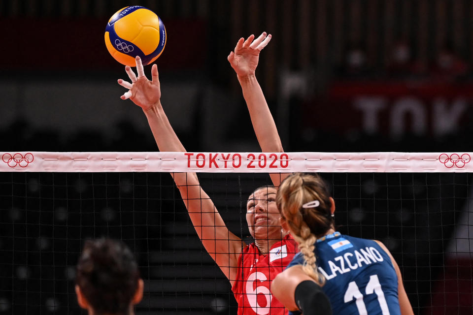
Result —
<svg viewBox="0 0 473 315"><path fill-rule="evenodd" d="M159 102L161 98L161 87L159 84L158 66L153 64L151 67L151 81L144 75L143 64L141 59L136 56L136 77L135 72L128 65L125 66L125 71L128 77L132 81L127 82L122 79L118 79L118 84L128 89L124 95L120 96L121 99L130 98L136 105L141 107L143 110L148 110L154 104Z"/></svg>

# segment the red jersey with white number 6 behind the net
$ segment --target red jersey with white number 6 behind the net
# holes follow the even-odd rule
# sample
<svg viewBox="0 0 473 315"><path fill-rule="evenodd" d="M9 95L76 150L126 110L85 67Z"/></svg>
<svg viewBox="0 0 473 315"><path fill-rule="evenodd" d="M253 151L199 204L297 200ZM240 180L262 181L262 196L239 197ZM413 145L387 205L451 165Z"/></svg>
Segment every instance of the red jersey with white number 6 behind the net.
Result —
<svg viewBox="0 0 473 315"><path fill-rule="evenodd" d="M232 291L238 303L238 315L287 315L284 305L270 292L271 281L299 252L290 235L275 243L267 255L255 243L247 245L238 258L238 272Z"/></svg>

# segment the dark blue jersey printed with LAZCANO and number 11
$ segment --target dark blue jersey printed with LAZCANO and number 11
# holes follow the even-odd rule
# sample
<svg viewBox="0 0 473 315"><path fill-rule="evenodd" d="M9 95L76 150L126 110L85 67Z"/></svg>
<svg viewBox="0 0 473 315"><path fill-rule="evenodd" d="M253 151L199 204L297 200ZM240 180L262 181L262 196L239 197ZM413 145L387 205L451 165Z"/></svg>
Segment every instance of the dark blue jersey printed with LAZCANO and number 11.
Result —
<svg viewBox="0 0 473 315"><path fill-rule="evenodd" d="M318 239L314 252L333 314L401 315L396 271L375 241L335 232ZM304 255L298 253L287 268L303 264Z"/></svg>

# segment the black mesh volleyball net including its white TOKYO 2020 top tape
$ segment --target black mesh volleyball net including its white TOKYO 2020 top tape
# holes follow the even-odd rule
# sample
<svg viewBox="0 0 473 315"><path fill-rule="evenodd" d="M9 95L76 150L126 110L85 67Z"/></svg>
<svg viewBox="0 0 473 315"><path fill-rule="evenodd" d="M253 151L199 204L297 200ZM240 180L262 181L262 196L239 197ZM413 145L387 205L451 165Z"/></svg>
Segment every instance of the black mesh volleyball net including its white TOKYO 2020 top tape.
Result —
<svg viewBox="0 0 473 315"><path fill-rule="evenodd" d="M74 291L85 240L135 253L136 314L236 314L169 172L197 172L230 231L251 242L246 200L268 173L317 172L337 229L382 241L419 315L473 309L472 153L0 153L0 315L83 314Z"/></svg>

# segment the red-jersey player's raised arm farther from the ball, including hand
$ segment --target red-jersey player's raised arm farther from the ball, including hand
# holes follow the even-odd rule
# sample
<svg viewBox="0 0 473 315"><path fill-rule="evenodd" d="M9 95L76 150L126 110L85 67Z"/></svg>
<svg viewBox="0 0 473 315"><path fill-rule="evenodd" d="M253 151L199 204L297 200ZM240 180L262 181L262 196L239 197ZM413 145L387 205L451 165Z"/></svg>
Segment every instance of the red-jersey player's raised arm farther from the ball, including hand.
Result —
<svg viewBox="0 0 473 315"><path fill-rule="evenodd" d="M270 40L271 34L266 32L263 32L258 38L255 38L254 35L250 35L246 40L240 38L236 43L235 50L228 55L228 61L236 72L261 150L263 152L284 152L265 95L255 76L260 52ZM270 176L276 187L287 177L285 174L270 174Z"/></svg>

